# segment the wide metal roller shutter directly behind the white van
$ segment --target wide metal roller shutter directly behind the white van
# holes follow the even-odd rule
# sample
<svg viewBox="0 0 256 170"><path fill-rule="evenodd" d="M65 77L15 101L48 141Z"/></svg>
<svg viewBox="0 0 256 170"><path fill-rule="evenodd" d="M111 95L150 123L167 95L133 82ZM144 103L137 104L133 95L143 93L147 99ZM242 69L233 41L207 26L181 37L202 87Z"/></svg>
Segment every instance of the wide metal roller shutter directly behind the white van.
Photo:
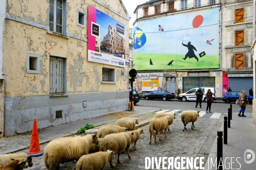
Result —
<svg viewBox="0 0 256 170"><path fill-rule="evenodd" d="M183 93L198 87L215 88L215 77L183 77Z"/></svg>

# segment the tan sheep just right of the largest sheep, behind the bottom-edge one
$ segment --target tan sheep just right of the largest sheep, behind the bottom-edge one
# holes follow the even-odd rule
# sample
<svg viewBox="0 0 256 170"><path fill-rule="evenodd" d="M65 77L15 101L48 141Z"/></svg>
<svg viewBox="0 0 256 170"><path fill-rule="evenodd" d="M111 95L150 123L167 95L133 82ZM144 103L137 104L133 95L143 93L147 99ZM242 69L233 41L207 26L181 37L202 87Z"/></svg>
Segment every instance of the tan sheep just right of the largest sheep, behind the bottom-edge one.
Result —
<svg viewBox="0 0 256 170"><path fill-rule="evenodd" d="M117 162L120 164L119 161L119 156L120 153L123 150L126 150L128 153L128 158L131 158L130 153L129 153L129 148L131 145L131 139L133 137L134 133L126 133L126 132L121 132L121 133L113 133L105 136L102 138L100 142L100 151L107 151L107 150L113 150L115 153L118 153L118 158ZM111 167L113 168L112 160L109 162Z"/></svg>

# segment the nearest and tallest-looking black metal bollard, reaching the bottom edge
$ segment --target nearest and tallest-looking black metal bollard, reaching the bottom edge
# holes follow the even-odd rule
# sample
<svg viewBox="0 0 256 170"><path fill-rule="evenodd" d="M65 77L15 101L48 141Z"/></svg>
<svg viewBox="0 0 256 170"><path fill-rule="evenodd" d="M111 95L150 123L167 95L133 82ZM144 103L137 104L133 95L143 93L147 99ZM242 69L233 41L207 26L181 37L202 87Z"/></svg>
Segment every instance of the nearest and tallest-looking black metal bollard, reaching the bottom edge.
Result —
<svg viewBox="0 0 256 170"><path fill-rule="evenodd" d="M222 144L222 135L223 132L221 130L217 131L217 170L222 170L222 155L223 155L223 144Z"/></svg>

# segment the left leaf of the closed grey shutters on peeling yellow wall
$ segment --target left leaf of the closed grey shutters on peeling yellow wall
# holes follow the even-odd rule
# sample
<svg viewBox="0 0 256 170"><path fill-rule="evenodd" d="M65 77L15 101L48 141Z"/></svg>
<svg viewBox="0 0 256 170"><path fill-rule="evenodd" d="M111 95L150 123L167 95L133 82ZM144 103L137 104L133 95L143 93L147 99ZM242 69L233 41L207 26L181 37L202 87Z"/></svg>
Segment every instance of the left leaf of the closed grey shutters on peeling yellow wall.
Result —
<svg viewBox="0 0 256 170"><path fill-rule="evenodd" d="M56 91L56 64L57 59L50 57L50 93L55 93Z"/></svg>

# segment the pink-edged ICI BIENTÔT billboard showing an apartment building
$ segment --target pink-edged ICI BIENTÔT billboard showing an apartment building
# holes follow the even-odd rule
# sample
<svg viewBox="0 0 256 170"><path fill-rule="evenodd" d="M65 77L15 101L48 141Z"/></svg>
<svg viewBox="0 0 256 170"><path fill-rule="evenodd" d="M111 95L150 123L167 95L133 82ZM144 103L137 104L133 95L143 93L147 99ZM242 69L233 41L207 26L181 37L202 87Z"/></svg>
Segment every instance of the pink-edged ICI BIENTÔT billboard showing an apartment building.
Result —
<svg viewBox="0 0 256 170"><path fill-rule="evenodd" d="M125 67L125 24L88 6L88 61Z"/></svg>

